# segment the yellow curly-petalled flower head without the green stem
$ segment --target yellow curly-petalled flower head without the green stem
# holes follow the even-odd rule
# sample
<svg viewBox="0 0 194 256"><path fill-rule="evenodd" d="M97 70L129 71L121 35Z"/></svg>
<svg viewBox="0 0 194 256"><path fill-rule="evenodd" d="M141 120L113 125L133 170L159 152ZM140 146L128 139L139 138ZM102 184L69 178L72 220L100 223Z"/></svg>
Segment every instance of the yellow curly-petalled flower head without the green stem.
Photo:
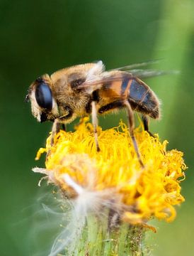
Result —
<svg viewBox="0 0 194 256"><path fill-rule="evenodd" d="M87 192L91 205L96 200L98 210L104 205L112 207L127 223L143 224L152 217L171 221L176 217L174 206L184 201L180 186L186 169L183 153L166 151L167 142L159 142L157 135L150 137L142 127L135 129L135 137L144 169L123 122L105 131L98 127L101 151L97 152L93 127L83 119L75 132L56 134L53 146L48 137L46 148L37 154L39 159L49 152L46 169L35 171L47 174L48 181L66 191L69 198Z"/></svg>

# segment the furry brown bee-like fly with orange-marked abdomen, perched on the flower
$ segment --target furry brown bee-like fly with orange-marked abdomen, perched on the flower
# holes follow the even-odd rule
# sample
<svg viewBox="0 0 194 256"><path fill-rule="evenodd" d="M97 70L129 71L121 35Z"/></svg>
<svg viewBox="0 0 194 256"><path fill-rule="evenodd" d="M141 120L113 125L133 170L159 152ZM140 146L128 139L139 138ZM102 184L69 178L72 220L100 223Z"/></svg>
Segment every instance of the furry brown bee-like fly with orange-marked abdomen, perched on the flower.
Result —
<svg viewBox="0 0 194 256"><path fill-rule="evenodd" d="M60 124L72 122L76 117L91 114L96 149L98 144L98 114L125 108L129 132L139 164L143 167L134 135L134 112L142 114L144 129L149 132L149 117L159 118L159 100L139 78L161 75L161 71L132 70L146 63L105 71L102 61L86 63L42 75L29 87L26 100L30 100L33 116L39 122L52 121L52 140Z"/></svg>

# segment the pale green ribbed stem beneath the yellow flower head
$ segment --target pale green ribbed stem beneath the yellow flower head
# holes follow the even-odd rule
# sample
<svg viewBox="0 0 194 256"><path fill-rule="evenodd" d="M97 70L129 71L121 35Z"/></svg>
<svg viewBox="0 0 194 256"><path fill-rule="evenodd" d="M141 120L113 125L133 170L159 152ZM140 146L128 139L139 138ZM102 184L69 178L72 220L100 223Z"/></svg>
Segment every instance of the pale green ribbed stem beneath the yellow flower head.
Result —
<svg viewBox="0 0 194 256"><path fill-rule="evenodd" d="M144 230L139 226L120 223L108 227L108 218L90 214L71 256L143 256Z"/></svg>

